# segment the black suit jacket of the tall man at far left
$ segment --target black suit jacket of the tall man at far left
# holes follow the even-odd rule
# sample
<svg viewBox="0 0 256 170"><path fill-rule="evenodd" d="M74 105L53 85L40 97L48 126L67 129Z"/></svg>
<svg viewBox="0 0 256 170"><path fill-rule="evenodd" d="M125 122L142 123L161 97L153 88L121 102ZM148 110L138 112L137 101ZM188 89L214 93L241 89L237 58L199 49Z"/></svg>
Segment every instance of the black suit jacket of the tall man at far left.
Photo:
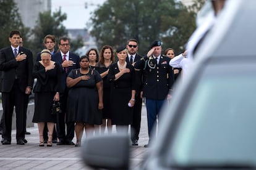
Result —
<svg viewBox="0 0 256 170"><path fill-rule="evenodd" d="M33 87L33 55L29 49L19 47L19 53L25 53L27 59L17 62L11 46L0 51L0 91L10 92L14 85L15 75L19 81L20 91L25 92L27 86Z"/></svg>

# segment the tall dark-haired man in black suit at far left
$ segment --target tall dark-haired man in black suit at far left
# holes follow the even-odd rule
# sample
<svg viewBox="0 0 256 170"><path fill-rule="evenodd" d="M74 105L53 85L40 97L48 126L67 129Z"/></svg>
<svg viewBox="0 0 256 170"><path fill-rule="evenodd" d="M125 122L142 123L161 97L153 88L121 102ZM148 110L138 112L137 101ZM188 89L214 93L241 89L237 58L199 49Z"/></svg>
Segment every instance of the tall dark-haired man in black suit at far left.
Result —
<svg viewBox="0 0 256 170"><path fill-rule="evenodd" d="M17 144L24 145L25 139L27 101L33 86L33 55L29 49L19 46L20 37L20 31L11 31L9 35L11 47L0 51L0 91L4 116L3 145L11 144L14 106Z"/></svg>

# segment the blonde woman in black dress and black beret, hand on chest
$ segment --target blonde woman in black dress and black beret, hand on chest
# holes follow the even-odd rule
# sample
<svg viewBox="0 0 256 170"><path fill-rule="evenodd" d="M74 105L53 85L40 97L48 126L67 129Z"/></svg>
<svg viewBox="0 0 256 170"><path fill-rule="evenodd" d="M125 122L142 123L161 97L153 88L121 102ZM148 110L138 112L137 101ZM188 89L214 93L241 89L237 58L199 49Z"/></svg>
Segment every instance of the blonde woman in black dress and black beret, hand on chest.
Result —
<svg viewBox="0 0 256 170"><path fill-rule="evenodd" d="M128 132L132 123L132 107L135 102L134 67L126 63L126 47L116 49L118 62L109 67L108 79L113 82L111 89L112 124L116 124L116 131L122 129Z"/></svg>

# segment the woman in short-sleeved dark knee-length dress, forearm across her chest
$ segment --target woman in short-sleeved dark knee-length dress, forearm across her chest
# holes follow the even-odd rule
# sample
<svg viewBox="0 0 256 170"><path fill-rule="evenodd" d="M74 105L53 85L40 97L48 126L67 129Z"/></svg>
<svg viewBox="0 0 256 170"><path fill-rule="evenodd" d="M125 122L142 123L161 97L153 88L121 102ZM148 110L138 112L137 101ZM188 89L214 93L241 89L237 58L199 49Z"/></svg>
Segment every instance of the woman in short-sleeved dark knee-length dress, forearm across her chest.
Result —
<svg viewBox="0 0 256 170"><path fill-rule="evenodd" d="M80 146L83 128L87 135L93 132L94 124L101 124L103 108L103 81L98 71L89 68L89 58L80 58L80 68L67 76L69 97L67 99L68 122L75 122L76 147Z"/></svg>

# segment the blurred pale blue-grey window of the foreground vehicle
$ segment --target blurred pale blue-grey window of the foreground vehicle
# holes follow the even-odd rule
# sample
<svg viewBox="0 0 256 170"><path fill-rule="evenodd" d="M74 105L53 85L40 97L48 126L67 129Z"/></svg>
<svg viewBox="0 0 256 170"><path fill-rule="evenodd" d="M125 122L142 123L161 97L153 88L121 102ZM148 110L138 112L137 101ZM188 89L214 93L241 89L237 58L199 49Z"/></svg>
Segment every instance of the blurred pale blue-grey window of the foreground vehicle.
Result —
<svg viewBox="0 0 256 170"><path fill-rule="evenodd" d="M203 71L169 148L176 164L256 164L255 64Z"/></svg>

